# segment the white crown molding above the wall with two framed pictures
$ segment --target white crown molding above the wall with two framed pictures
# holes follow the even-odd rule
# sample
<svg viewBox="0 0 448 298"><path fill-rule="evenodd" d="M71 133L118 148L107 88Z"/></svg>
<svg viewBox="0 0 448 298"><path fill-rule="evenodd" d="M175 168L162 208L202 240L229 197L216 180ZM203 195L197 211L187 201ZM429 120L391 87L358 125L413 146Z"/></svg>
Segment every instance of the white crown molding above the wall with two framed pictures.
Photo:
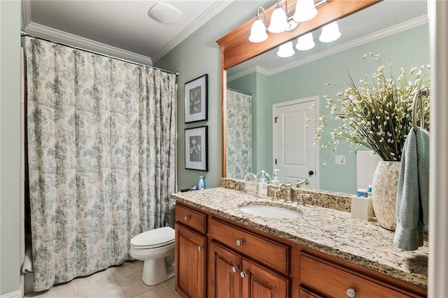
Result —
<svg viewBox="0 0 448 298"><path fill-rule="evenodd" d="M198 17L195 22L191 23L181 31L181 33L177 34L167 45L165 45L161 50L158 51L156 55L153 55L153 62L157 62L158 59L167 55L167 53L176 48L176 45L179 45L182 41L184 41L188 36L193 34L197 29L202 27L205 23L211 20L215 15L221 12L224 8L230 5L234 0L217 0L215 3L210 6L207 10Z"/></svg>

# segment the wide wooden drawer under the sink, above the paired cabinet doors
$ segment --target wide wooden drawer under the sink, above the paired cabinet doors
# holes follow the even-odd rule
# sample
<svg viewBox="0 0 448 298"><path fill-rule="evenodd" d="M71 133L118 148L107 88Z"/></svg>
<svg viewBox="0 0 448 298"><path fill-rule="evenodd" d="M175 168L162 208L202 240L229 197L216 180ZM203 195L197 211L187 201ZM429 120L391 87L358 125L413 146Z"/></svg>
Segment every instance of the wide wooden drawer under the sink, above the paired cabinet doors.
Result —
<svg viewBox="0 0 448 298"><path fill-rule="evenodd" d="M211 218L209 232L212 239L232 250L252 257L283 274L289 274L289 246L245 232L216 218Z"/></svg>

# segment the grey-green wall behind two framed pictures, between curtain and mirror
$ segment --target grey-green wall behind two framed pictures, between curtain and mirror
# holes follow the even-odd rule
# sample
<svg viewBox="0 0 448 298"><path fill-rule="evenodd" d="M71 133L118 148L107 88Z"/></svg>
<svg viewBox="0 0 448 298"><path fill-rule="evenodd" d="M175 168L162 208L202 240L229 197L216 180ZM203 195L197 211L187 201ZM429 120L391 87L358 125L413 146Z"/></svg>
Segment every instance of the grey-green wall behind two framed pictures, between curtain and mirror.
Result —
<svg viewBox="0 0 448 298"><path fill-rule="evenodd" d="M270 1L234 1L218 13L200 29L171 50L154 65L162 69L179 71L177 102L177 176L178 188L183 189L197 184L197 178L204 175L206 187L216 187L221 178L221 50L216 41L250 20L258 6L265 7ZM246 11L246 15L237 13ZM240 17L235 17L240 15ZM232 16L232 17L229 17ZM204 73L209 74L209 120L185 124L183 98L184 84ZM185 169L184 130L186 128L208 125L209 127L209 171Z"/></svg>

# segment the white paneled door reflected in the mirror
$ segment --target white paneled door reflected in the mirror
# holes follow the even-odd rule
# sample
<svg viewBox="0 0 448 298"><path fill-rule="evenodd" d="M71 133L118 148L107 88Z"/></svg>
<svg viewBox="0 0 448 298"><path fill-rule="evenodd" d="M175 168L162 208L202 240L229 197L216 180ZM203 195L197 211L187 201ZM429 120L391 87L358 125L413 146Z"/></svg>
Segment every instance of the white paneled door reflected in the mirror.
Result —
<svg viewBox="0 0 448 298"><path fill-rule="evenodd" d="M295 185L308 179L318 189L318 146L314 146L318 97L307 97L272 106L274 168L282 183Z"/></svg>

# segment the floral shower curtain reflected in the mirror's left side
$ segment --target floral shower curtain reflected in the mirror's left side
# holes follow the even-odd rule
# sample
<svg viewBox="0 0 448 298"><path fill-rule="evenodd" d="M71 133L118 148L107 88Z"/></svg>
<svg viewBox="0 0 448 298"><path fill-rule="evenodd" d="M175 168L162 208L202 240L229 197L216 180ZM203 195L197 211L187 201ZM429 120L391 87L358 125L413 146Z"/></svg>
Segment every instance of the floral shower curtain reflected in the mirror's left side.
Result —
<svg viewBox="0 0 448 298"><path fill-rule="evenodd" d="M244 179L252 171L252 96L227 89L226 175Z"/></svg>

